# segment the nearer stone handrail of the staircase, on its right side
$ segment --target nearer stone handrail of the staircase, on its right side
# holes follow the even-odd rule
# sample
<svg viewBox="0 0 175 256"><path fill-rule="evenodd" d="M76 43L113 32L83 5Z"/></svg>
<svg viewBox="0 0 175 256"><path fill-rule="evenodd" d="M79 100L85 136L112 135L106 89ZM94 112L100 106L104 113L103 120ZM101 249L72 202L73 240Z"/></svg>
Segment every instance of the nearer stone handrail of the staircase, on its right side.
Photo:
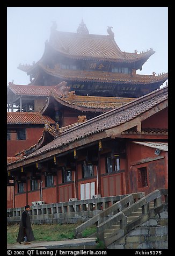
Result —
<svg viewBox="0 0 175 256"><path fill-rule="evenodd" d="M123 233L129 232L133 226L127 223L127 217L129 217L133 212L137 211L138 208L142 208L142 216L148 215L150 212L149 204L150 202L154 202L154 207L158 207L163 204L162 202L162 196L164 196L164 202L167 203L167 197L168 197L168 190L167 189L156 189L152 193L148 194L147 196L144 196L137 202L129 205L127 208L123 209L122 212L118 212L111 218L108 218L105 222L99 224L97 226L97 237L99 240L105 241L104 234L105 229L110 228L113 224L119 223L120 230L123 230ZM143 219L143 222L145 219ZM130 230L128 229L128 226L130 225ZM127 228L126 228L127 227ZM121 236L123 236L123 233L121 232ZM110 235L111 236L111 235ZM120 238L121 236L118 236ZM111 240L111 241L109 241ZM108 243L112 243L112 239L108 239Z"/></svg>

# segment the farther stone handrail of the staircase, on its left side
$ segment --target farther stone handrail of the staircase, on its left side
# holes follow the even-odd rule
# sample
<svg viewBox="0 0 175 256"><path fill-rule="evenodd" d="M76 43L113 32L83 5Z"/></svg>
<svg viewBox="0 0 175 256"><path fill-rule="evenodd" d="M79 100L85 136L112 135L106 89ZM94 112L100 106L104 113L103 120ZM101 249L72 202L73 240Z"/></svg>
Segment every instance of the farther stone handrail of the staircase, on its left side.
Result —
<svg viewBox="0 0 175 256"><path fill-rule="evenodd" d="M75 229L75 236L81 237L81 233L83 230L85 230L87 227L97 223L99 225L100 223L104 223L105 217L108 215L115 215L115 212L118 213L121 210L125 209L126 205L131 205L134 203L135 200L139 200L144 196L144 193L133 193L126 195L124 198L122 198L119 202L114 203L107 209L103 210L103 212L100 212L99 214L95 215L88 221L82 223Z"/></svg>

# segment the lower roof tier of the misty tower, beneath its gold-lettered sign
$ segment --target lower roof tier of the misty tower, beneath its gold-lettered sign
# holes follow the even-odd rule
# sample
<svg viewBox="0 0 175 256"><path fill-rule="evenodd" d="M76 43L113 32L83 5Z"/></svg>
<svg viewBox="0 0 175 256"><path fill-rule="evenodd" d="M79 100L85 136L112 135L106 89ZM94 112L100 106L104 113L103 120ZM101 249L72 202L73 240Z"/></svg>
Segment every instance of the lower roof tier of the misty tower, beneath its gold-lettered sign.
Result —
<svg viewBox="0 0 175 256"><path fill-rule="evenodd" d="M59 66L55 66L54 69L44 66L39 63L39 66L50 75L61 77L64 80L71 81L91 81L91 82L120 82L120 83L132 83L132 84L144 84L152 82L164 82L168 78L168 73L162 75L131 75L114 72L100 72L100 71L86 71L86 70L69 70L61 69Z"/></svg>

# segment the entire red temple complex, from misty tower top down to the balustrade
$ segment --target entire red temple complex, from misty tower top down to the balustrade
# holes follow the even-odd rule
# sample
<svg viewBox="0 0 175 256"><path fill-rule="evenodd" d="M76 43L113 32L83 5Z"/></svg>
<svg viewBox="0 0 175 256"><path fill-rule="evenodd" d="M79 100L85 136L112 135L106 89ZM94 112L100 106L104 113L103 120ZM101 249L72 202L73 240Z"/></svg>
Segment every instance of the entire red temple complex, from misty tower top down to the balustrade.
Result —
<svg viewBox="0 0 175 256"><path fill-rule="evenodd" d="M53 23L42 58L19 65L31 82L9 83L8 131L38 132L8 155L8 208L167 188L168 74L138 75L155 51L122 52L111 29Z"/></svg>

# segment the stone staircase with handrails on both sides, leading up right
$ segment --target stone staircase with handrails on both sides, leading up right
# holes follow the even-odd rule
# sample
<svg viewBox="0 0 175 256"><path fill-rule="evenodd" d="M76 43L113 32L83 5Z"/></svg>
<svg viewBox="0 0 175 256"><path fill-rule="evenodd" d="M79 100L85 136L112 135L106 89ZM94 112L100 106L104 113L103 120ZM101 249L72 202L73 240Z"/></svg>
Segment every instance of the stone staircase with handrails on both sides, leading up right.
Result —
<svg viewBox="0 0 175 256"><path fill-rule="evenodd" d="M96 223L97 232L91 237L96 236L107 248L135 227L148 221L152 209L167 203L167 195L167 189L157 189L147 196L144 193L130 194L78 226L75 235L81 237L84 229Z"/></svg>

